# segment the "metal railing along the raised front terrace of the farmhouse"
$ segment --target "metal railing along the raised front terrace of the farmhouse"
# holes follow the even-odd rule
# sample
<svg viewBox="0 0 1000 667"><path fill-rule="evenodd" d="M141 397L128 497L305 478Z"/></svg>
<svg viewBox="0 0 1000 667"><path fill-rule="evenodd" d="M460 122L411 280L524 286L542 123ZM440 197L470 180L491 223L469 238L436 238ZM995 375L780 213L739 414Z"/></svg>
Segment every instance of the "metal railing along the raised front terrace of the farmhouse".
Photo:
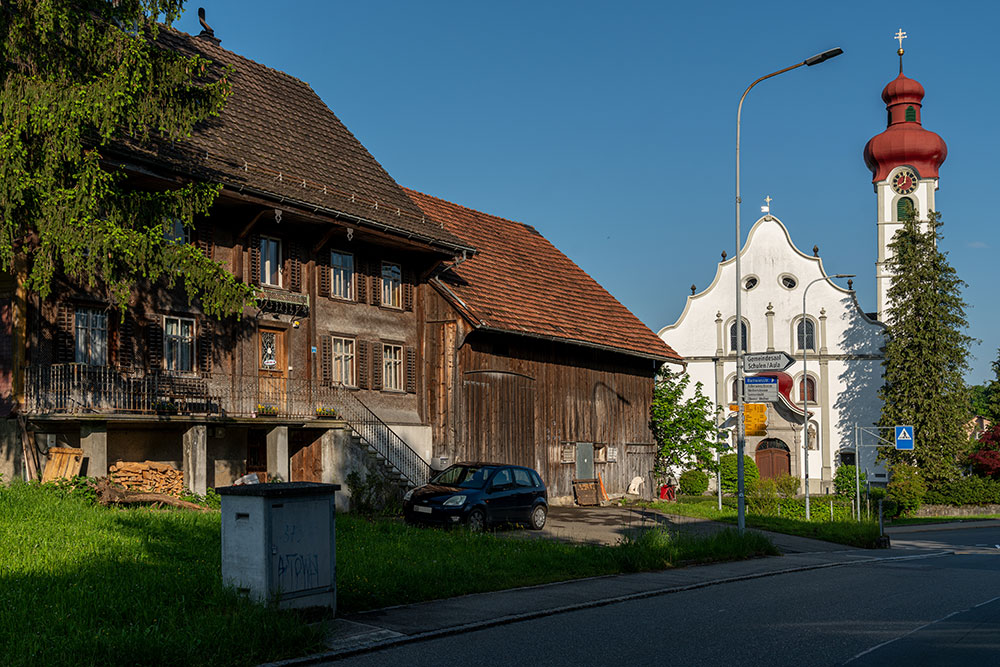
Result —
<svg viewBox="0 0 1000 667"><path fill-rule="evenodd" d="M334 418L346 390L304 378L131 372L54 364L25 371L29 415Z"/></svg>

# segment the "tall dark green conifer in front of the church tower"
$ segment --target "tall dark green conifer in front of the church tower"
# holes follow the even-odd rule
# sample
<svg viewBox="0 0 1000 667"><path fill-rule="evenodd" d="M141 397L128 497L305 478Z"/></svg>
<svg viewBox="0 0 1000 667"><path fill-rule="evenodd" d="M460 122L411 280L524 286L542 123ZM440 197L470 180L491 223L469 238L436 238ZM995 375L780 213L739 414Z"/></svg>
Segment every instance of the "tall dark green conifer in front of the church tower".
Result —
<svg viewBox="0 0 1000 667"><path fill-rule="evenodd" d="M921 231L926 225L927 231ZM928 483L961 473L968 447L969 402L963 379L968 368L965 302L955 269L937 248L941 220L907 220L890 244L888 341L880 426L912 424L912 451L880 449L880 457L915 465Z"/></svg>

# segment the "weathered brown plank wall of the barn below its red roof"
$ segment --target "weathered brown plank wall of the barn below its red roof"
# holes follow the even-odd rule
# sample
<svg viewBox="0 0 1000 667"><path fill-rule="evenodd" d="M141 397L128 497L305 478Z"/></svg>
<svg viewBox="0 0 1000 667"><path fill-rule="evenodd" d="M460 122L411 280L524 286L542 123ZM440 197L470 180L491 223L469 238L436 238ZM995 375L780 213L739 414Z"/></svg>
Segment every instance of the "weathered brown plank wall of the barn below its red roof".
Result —
<svg viewBox="0 0 1000 667"><path fill-rule="evenodd" d="M438 461L529 465L551 496L566 498L576 465L575 457L563 462L563 447L588 442L609 494L623 493L634 477L651 493L652 360L475 330L427 292L424 415Z"/></svg>

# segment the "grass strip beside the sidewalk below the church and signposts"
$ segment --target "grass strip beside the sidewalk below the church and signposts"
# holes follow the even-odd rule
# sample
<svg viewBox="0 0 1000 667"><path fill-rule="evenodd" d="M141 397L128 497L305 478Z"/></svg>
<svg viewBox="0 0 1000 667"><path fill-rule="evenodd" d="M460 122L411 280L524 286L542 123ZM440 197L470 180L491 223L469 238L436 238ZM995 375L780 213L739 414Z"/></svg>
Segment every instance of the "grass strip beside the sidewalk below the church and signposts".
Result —
<svg viewBox="0 0 1000 667"><path fill-rule="evenodd" d="M724 499L724 503L732 499ZM676 502L654 502L651 507L665 514L680 514L713 521L736 523L736 508L723 504L718 509L718 500L709 496L681 496ZM746 525L750 528L770 530L786 535L811 537L827 542L872 549L878 540L877 521L829 521L821 502L816 503L812 521L789 519L780 516L746 514Z"/></svg>

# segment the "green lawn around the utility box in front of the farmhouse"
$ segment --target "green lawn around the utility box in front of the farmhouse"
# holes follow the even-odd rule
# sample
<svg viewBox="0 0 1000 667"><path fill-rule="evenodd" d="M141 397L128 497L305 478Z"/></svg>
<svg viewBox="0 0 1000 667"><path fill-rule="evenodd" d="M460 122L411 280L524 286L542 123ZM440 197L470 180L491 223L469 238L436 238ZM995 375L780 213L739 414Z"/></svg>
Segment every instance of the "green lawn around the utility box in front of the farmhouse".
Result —
<svg viewBox="0 0 1000 667"><path fill-rule="evenodd" d="M760 535L647 531L572 545L337 517L338 613L777 554ZM0 664L252 665L321 650L323 629L222 586L220 515L108 509L0 485Z"/></svg>

